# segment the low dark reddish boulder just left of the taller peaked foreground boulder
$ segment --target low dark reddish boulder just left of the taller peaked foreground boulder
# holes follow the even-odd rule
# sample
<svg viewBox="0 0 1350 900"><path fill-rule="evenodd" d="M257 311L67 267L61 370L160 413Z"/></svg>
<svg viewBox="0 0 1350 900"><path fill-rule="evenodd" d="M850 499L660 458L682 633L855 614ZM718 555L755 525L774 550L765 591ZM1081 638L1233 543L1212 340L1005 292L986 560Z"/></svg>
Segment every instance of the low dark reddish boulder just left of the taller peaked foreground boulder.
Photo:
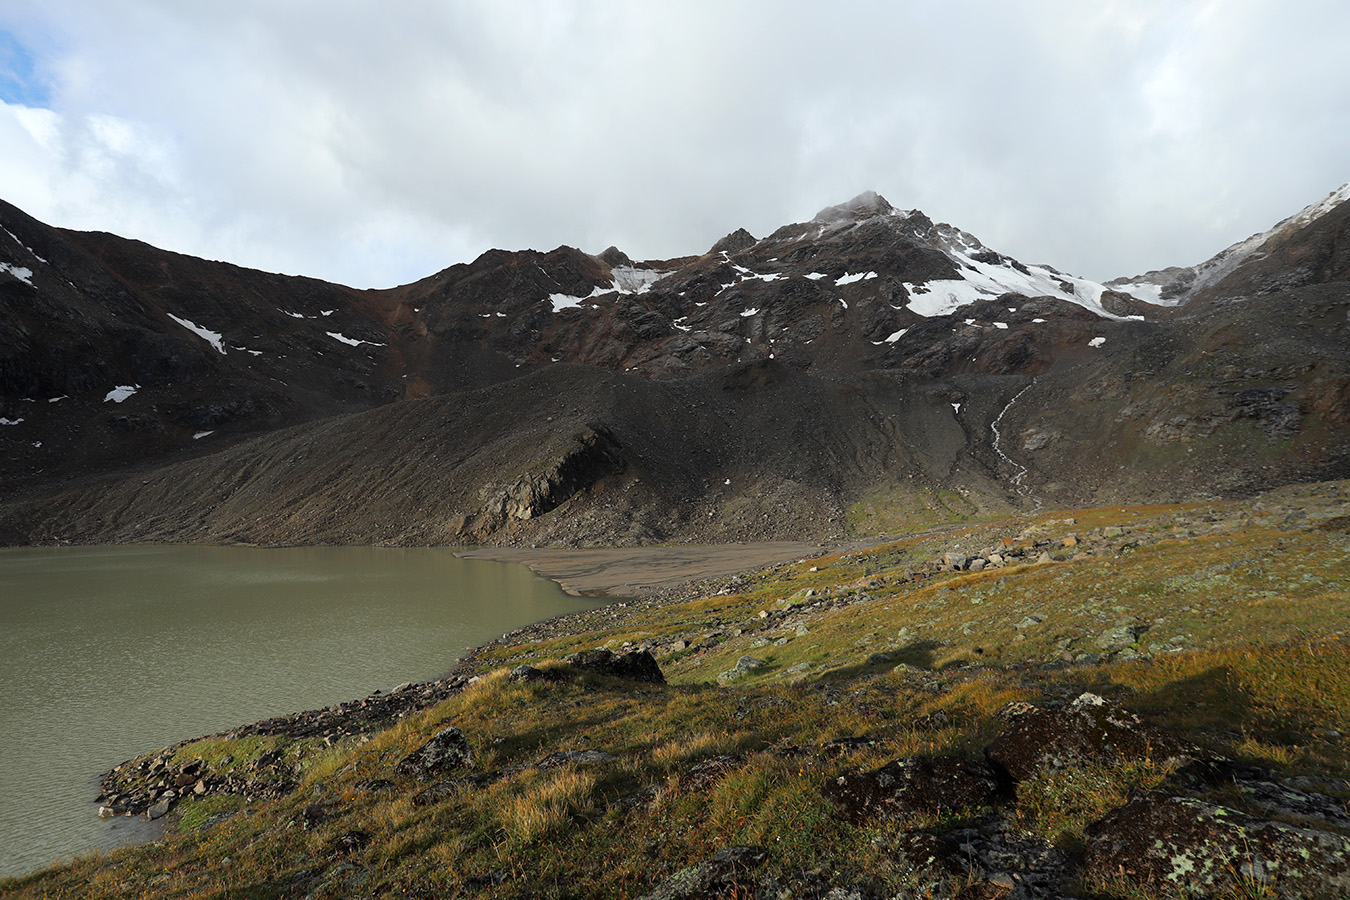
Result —
<svg viewBox="0 0 1350 900"><path fill-rule="evenodd" d="M948 756L892 760L871 772L846 772L821 788L840 818L855 824L984 806L998 789L988 765Z"/></svg>

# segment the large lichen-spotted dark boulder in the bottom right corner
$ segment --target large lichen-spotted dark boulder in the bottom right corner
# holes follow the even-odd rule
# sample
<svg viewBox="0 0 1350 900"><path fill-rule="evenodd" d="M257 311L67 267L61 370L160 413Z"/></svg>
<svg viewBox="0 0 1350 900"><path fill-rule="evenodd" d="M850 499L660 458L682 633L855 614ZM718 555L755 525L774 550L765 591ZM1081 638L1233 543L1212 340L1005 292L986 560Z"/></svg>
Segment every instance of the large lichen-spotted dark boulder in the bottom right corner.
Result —
<svg viewBox="0 0 1350 900"><path fill-rule="evenodd" d="M1273 888L1280 897L1350 892L1350 838L1145 792L1084 831L1084 874L1153 891ZM1262 895L1265 896L1265 895Z"/></svg>

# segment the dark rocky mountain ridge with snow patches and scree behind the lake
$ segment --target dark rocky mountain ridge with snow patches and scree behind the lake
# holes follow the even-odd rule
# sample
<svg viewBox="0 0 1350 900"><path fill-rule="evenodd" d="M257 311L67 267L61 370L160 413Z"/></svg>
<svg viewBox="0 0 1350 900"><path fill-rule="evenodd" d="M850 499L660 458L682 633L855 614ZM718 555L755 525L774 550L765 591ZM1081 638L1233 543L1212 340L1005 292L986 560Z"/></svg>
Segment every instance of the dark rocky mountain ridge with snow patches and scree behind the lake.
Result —
<svg viewBox="0 0 1350 900"><path fill-rule="evenodd" d="M0 206L0 540L817 537L1343 476L1346 197L1108 285L869 192L390 290Z"/></svg>

